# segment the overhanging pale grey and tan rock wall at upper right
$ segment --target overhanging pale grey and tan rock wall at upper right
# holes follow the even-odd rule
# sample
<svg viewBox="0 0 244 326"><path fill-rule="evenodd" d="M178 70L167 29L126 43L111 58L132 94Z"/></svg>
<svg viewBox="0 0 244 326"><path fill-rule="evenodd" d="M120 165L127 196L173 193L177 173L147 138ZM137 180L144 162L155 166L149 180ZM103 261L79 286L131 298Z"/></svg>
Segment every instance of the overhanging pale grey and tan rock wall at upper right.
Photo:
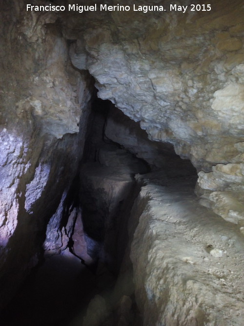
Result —
<svg viewBox="0 0 244 326"><path fill-rule="evenodd" d="M89 69L98 96L140 122L149 139L190 158L200 173L202 203L241 227L243 15L241 0L214 0L211 11L184 14L90 12L82 24L72 13L63 26L67 38L77 39L72 63Z"/></svg>

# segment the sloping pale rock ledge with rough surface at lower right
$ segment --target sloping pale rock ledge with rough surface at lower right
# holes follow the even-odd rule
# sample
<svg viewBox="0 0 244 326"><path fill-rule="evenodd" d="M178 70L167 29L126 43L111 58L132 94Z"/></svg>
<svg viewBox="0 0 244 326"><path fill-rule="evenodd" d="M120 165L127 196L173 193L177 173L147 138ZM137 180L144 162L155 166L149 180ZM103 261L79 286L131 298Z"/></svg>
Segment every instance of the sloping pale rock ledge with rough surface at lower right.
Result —
<svg viewBox="0 0 244 326"><path fill-rule="evenodd" d="M156 173L140 178L145 185L132 210L131 221L139 217L139 224L130 257L143 325L242 325L238 228L199 205L194 179L176 185Z"/></svg>

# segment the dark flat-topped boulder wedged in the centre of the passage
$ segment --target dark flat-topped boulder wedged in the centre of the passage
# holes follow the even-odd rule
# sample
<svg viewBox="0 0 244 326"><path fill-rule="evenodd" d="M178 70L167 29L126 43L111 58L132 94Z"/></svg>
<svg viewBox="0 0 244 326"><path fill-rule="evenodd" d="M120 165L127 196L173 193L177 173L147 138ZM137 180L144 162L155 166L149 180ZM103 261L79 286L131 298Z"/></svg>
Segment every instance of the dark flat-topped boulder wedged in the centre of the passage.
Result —
<svg viewBox="0 0 244 326"><path fill-rule="evenodd" d="M123 255L119 250L126 242L122 230L126 230L127 217L122 213L135 191L133 175L147 169L132 154L111 144L100 148L99 158L100 162L81 166L80 197L87 252L117 272Z"/></svg>

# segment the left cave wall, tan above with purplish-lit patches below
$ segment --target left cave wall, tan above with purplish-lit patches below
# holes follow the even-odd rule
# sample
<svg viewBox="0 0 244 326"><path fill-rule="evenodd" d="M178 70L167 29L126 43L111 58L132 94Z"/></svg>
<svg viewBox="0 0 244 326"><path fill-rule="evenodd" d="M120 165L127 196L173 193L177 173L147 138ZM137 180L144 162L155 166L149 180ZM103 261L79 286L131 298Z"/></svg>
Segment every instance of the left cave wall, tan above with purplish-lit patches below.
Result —
<svg viewBox="0 0 244 326"><path fill-rule="evenodd" d="M57 15L24 9L0 3L0 304L38 262L77 172L92 85L69 64Z"/></svg>

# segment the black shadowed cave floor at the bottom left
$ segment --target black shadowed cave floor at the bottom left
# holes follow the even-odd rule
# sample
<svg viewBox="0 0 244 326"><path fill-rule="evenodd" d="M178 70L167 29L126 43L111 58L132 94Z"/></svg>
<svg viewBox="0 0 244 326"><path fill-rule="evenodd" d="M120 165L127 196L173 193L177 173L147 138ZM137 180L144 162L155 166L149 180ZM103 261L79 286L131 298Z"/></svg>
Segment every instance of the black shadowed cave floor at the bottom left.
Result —
<svg viewBox="0 0 244 326"><path fill-rule="evenodd" d="M74 255L49 256L1 317L4 326L67 326L96 292L95 276ZM81 323L80 323L81 325Z"/></svg>

